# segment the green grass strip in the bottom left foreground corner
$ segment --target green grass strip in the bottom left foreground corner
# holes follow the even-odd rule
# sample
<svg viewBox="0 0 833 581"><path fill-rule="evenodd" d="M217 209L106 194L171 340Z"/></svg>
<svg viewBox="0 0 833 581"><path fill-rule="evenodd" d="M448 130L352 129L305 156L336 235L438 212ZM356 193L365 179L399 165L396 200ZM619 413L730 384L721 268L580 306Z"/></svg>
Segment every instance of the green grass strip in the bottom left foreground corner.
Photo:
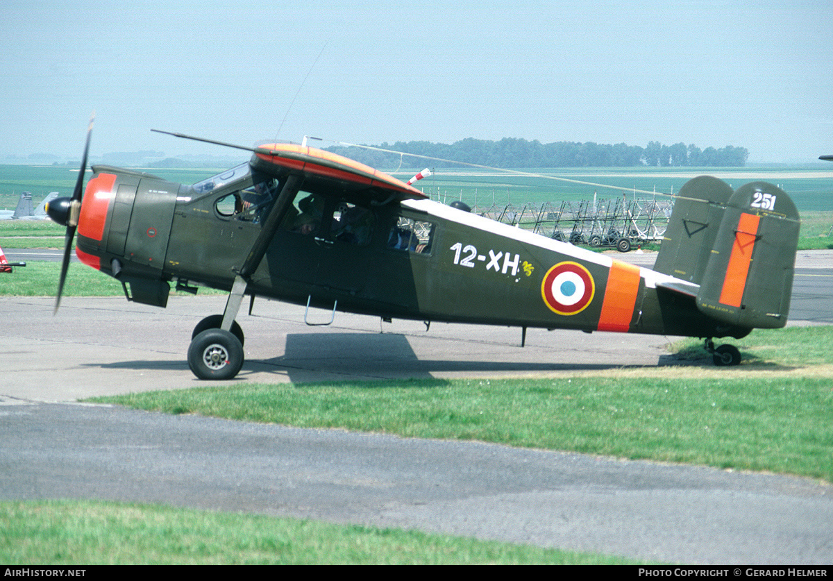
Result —
<svg viewBox="0 0 833 581"><path fill-rule="evenodd" d="M0 502L0 531L6 565L627 563L416 531L147 504Z"/></svg>

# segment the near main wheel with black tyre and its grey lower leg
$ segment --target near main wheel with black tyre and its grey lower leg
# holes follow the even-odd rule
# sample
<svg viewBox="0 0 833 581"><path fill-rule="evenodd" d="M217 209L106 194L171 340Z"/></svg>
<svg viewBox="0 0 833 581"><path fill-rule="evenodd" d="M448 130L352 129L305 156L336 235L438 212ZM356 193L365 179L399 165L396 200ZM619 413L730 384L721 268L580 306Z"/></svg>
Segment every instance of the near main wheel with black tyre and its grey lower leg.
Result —
<svg viewBox="0 0 833 581"><path fill-rule="evenodd" d="M243 366L243 331L234 319L246 286L237 276L223 314L206 317L194 328L188 367L201 380L230 380Z"/></svg>

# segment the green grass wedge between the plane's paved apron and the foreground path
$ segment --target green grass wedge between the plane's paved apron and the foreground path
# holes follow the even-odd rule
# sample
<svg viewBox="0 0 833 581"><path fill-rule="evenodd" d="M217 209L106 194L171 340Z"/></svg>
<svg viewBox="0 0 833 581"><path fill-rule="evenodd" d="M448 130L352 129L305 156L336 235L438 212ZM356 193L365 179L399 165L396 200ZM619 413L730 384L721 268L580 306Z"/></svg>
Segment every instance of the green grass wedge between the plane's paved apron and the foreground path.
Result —
<svg viewBox="0 0 833 581"><path fill-rule="evenodd" d="M770 470L833 482L831 374L792 375L790 367L800 365L802 345L816 340L819 345L804 354L817 365L829 365L833 351L826 345L833 330L778 333L758 331L741 341L753 363L735 369L688 364L656 370L657 376L622 370L611 377L546 380L240 384L91 401L231 420ZM781 353L787 354L783 360Z"/></svg>

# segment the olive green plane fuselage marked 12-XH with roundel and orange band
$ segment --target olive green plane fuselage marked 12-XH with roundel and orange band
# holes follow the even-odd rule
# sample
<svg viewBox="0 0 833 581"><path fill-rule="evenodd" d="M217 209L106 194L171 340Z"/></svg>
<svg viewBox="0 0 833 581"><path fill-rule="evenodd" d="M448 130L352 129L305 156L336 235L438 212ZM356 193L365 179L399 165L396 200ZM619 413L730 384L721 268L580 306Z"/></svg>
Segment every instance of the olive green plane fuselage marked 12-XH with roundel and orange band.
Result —
<svg viewBox="0 0 833 581"><path fill-rule="evenodd" d="M140 302L164 306L168 281L232 289L266 221L233 207L229 192L252 186L251 176L207 195L152 176L117 176L102 241L79 236L79 250L100 256L101 270L125 281L128 297ZM693 296L656 286L673 277L607 255L432 201L310 189L284 192L292 203L246 277L248 295L383 318L701 337L748 332L703 315ZM298 226L304 196L319 200L312 231ZM361 237L345 236L347 206L364 212Z"/></svg>

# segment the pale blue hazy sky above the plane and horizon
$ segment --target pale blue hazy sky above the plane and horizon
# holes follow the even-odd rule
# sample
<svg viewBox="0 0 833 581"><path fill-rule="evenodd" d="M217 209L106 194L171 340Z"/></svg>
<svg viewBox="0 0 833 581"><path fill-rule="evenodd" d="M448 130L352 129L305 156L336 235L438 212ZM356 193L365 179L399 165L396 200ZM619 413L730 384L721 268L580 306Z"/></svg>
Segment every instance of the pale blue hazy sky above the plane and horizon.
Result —
<svg viewBox="0 0 833 581"><path fill-rule="evenodd" d="M92 155L229 153L151 128L833 153L830 0L4 0L0 47L0 163L80 156L92 110Z"/></svg>

